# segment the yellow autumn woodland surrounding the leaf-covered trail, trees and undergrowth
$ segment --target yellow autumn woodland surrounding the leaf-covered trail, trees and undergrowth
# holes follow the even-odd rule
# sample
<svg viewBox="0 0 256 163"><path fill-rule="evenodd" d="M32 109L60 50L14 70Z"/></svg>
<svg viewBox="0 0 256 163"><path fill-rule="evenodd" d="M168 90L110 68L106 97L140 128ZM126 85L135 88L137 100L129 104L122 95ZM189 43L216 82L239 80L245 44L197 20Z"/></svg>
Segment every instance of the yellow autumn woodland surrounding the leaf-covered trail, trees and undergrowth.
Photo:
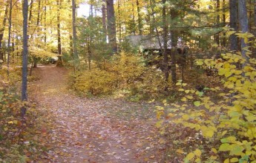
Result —
<svg viewBox="0 0 256 163"><path fill-rule="evenodd" d="M88 16L77 17L80 3L90 6ZM163 101L156 113L166 160L172 149L184 162L255 162L255 0L7 0L0 7L4 147L27 130L33 69L56 62L70 70L69 89L79 96ZM172 133L180 126L186 138ZM168 147L174 139L186 141Z"/></svg>

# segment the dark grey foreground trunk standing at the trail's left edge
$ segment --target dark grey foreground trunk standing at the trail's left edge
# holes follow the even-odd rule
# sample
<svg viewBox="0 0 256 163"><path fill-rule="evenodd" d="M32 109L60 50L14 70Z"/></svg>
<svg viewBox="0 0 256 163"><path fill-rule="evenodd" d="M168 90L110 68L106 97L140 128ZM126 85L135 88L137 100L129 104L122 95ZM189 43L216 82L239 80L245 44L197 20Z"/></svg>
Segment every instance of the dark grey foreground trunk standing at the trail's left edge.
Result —
<svg viewBox="0 0 256 163"><path fill-rule="evenodd" d="M22 52L22 102L27 101L27 13L28 3L27 0L23 0L23 52ZM26 105L22 106L21 114L24 118L26 114Z"/></svg>

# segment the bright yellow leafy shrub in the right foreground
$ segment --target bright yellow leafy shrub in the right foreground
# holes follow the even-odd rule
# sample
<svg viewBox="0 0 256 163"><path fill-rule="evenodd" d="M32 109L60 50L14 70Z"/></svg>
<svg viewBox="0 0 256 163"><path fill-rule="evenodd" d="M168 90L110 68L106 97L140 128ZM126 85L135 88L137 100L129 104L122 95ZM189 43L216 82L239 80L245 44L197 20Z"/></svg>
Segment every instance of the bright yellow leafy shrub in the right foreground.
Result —
<svg viewBox="0 0 256 163"><path fill-rule="evenodd" d="M220 59L197 60L199 65L217 69L222 86L197 91L180 81L183 103L164 101L165 107L157 107L157 126L163 135L171 132L171 126L183 126L188 133L171 136L180 139L174 152L185 156L185 162L255 162L256 60L251 52L246 55L248 59L228 52Z"/></svg>

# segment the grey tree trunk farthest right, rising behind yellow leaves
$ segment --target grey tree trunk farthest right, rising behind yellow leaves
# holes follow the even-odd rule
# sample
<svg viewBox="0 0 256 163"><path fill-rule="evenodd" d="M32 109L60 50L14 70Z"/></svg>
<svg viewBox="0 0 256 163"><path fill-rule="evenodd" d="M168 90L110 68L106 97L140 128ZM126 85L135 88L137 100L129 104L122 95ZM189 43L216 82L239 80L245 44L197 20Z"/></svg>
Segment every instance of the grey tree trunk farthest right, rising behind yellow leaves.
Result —
<svg viewBox="0 0 256 163"><path fill-rule="evenodd" d="M239 16L239 24L240 30L242 32L248 32L249 24L248 24L248 16L247 16L247 9L246 9L246 0L238 0L238 16ZM243 38L241 38L241 51L243 58L249 60L248 56L246 55L246 42Z"/></svg>

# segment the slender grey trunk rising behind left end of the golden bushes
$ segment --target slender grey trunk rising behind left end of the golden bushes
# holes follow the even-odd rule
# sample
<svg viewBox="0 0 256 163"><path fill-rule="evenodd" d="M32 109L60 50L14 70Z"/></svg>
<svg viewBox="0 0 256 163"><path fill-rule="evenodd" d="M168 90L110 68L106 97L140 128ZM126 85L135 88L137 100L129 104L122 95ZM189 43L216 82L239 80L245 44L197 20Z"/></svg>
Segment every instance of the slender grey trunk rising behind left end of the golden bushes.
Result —
<svg viewBox="0 0 256 163"><path fill-rule="evenodd" d="M76 1L72 0L72 27L73 27L73 59L75 69L79 66L79 58L76 46Z"/></svg>

